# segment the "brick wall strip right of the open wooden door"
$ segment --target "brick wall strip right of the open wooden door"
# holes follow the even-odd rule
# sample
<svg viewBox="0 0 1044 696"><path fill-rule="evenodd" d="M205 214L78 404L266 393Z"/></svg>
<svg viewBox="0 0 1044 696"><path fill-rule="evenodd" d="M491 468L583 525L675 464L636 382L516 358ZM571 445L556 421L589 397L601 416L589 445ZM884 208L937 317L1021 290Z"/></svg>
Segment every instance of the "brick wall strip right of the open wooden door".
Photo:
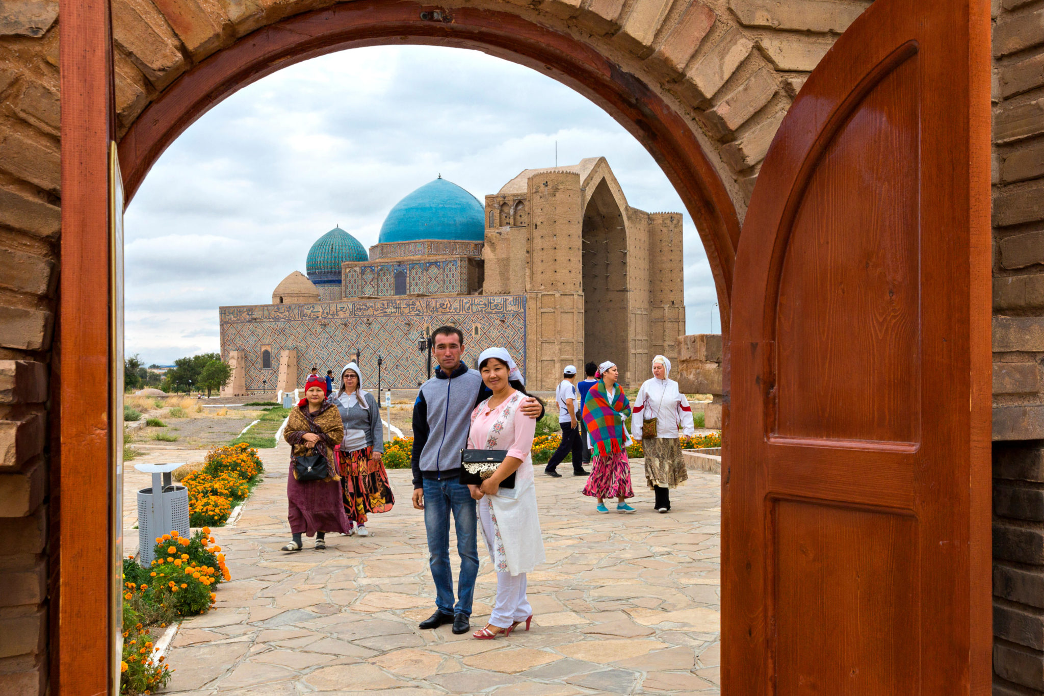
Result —
<svg viewBox="0 0 1044 696"><path fill-rule="evenodd" d="M994 2L994 694L1044 694L1044 2Z"/></svg>

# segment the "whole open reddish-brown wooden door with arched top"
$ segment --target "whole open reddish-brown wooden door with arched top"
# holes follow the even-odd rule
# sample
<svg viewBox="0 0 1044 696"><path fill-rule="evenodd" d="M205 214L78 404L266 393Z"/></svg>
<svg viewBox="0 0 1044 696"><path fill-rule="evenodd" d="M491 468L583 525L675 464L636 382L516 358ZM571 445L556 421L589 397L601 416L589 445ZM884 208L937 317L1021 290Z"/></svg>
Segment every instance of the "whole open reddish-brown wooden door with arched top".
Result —
<svg viewBox="0 0 1044 696"><path fill-rule="evenodd" d="M794 100L733 285L727 695L990 689L989 4L877 0Z"/></svg>

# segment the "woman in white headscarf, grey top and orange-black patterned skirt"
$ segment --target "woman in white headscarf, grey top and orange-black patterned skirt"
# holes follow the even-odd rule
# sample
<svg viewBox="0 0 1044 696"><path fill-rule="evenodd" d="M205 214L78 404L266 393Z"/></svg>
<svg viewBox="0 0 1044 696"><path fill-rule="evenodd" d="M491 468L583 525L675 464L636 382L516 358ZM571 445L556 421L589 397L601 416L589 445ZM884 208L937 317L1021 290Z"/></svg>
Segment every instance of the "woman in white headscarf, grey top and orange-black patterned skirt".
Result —
<svg viewBox="0 0 1044 696"><path fill-rule="evenodd" d="M340 412L345 437L337 448L337 474L345 515L359 536L369 536L366 512L387 512L395 504L381 462L384 430L377 400L363 391L362 370L354 362L340 370L340 388L331 397Z"/></svg>

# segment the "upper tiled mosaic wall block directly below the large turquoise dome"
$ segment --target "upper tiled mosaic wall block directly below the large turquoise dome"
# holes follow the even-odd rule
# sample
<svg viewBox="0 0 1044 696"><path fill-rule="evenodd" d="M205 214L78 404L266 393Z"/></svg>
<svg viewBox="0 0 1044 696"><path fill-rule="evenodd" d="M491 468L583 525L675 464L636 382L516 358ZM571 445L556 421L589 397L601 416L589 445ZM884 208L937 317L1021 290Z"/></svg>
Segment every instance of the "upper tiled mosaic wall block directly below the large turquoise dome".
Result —
<svg viewBox="0 0 1044 696"><path fill-rule="evenodd" d="M346 263L339 287L345 297L389 297L406 294L466 295L478 290L469 284L469 278L474 281L477 275L477 271L473 268L476 261L469 257L453 257L377 264Z"/></svg>

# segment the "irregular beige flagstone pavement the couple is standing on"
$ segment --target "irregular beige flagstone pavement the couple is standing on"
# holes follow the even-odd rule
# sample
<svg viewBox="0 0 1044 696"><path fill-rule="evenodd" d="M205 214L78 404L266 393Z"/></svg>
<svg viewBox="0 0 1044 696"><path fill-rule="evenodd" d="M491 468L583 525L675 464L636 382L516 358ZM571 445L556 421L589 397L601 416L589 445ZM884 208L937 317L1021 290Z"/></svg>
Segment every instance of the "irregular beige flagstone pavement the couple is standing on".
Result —
<svg viewBox="0 0 1044 696"><path fill-rule="evenodd" d="M477 641L417 627L434 587L408 471L389 472L397 503L371 518L370 537L333 534L326 551L308 541L287 554L288 451L263 453L269 474L237 526L214 530L234 579L213 610L182 624L165 693L719 693L718 476L690 474L673 511L658 514L635 461L639 511L623 515L596 513L585 479L538 475L548 561L529 574L532 629ZM496 587L478 545L472 630Z"/></svg>

